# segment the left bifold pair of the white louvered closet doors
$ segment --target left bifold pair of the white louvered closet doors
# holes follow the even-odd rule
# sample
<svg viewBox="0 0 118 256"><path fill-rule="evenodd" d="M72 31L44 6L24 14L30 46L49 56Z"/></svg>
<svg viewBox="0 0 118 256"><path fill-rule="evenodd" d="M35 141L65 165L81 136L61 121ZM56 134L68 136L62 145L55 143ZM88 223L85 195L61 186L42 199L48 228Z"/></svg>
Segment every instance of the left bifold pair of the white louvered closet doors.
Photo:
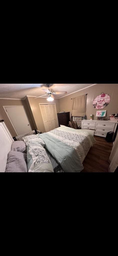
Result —
<svg viewBox="0 0 118 256"><path fill-rule="evenodd" d="M40 111L46 132L53 130L48 105L40 105Z"/></svg>

